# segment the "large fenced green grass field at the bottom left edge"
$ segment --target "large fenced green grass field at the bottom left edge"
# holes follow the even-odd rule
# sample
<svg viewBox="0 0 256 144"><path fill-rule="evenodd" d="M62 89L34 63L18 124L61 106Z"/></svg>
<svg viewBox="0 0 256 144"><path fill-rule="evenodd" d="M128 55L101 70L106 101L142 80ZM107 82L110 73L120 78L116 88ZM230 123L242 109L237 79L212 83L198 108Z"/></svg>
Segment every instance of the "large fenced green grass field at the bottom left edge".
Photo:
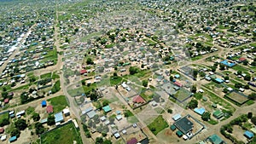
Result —
<svg viewBox="0 0 256 144"><path fill-rule="evenodd" d="M44 135L41 135L41 143L42 144L54 144L54 143L82 144L83 142L79 135L79 131L76 130L73 123L69 123L55 130L51 130Z"/></svg>

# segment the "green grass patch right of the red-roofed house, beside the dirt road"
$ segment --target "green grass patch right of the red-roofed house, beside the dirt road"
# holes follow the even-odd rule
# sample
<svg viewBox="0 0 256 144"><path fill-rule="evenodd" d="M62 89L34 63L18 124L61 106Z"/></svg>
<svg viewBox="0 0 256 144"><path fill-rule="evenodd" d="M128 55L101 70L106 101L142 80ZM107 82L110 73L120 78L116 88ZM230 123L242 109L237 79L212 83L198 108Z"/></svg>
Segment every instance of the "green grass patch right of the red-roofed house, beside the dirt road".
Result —
<svg viewBox="0 0 256 144"><path fill-rule="evenodd" d="M68 107L65 95L60 95L47 101L54 107L54 112L61 112L65 107Z"/></svg>

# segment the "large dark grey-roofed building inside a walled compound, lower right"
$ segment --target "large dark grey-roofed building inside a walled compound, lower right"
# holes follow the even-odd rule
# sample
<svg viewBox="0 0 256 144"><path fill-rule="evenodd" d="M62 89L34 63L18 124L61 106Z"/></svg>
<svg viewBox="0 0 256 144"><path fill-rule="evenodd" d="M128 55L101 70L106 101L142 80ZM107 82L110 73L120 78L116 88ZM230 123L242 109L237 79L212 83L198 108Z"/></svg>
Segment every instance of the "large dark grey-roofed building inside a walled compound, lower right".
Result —
<svg viewBox="0 0 256 144"><path fill-rule="evenodd" d="M193 129L193 123L187 118L183 117L174 123L178 130L180 130L184 135L188 134Z"/></svg>

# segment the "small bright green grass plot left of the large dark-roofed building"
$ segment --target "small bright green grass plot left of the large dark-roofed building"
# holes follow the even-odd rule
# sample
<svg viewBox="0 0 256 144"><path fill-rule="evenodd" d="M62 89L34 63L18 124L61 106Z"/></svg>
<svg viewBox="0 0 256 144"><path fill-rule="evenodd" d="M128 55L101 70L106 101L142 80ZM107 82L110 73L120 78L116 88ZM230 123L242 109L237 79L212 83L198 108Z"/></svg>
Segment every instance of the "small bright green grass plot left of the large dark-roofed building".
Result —
<svg viewBox="0 0 256 144"><path fill-rule="evenodd" d="M157 135L161 130L166 129L168 126L169 125L162 116L158 116L151 124L148 124L149 130L151 130L154 135Z"/></svg>

